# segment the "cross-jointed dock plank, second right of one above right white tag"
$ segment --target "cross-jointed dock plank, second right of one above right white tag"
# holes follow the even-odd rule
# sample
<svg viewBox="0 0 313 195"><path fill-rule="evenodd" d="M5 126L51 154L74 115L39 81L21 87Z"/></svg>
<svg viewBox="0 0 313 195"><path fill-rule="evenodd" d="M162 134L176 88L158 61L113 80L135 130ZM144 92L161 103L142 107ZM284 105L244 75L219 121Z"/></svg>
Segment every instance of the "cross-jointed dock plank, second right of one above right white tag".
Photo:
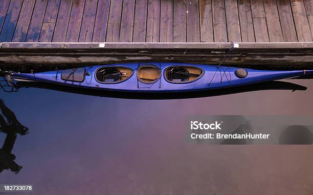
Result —
<svg viewBox="0 0 313 195"><path fill-rule="evenodd" d="M250 0L256 42L270 42L263 1Z"/></svg>

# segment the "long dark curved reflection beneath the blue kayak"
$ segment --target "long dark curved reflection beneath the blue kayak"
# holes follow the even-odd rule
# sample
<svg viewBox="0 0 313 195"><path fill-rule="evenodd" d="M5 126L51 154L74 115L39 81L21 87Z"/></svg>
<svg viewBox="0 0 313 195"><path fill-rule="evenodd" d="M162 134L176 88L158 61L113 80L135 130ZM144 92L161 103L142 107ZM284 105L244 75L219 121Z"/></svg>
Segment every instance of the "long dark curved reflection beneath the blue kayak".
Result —
<svg viewBox="0 0 313 195"><path fill-rule="evenodd" d="M238 86L227 89L216 89L206 91L195 92L180 92L180 93L127 93L127 92L114 92L114 91L100 91L92 89L80 89L73 87L66 87L61 85L54 85L52 83L44 82L25 82L18 81L16 83L18 88L40 88L49 89L55 91L69 92L74 94L91 95L98 97L114 97L123 99L186 99L186 98L199 98L199 97L213 97L221 95L230 95L243 92L254 92L262 90L292 90L305 91L307 88L301 85L297 85L292 82L285 81L268 81L262 83L255 83L246 86Z"/></svg>

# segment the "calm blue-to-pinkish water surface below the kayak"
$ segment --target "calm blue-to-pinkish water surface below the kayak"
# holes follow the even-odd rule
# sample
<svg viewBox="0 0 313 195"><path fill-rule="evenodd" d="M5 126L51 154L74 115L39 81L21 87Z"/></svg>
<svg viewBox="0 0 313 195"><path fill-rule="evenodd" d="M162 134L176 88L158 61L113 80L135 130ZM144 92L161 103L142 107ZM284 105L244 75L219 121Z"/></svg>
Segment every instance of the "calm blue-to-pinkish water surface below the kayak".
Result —
<svg viewBox="0 0 313 195"><path fill-rule="evenodd" d="M0 92L29 128L12 151L23 169L3 171L0 184L33 184L32 194L312 194L312 146L184 140L186 115L313 115L313 80L292 81L308 89L184 100Z"/></svg>

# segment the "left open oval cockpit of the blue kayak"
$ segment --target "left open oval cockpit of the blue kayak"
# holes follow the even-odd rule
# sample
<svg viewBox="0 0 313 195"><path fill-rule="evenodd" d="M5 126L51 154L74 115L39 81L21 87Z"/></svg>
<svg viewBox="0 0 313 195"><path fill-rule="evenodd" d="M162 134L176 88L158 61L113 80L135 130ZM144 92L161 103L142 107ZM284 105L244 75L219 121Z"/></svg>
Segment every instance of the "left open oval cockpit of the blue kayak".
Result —
<svg viewBox="0 0 313 195"><path fill-rule="evenodd" d="M96 70L96 79L100 83L119 83L127 80L133 70L126 67L101 67Z"/></svg>

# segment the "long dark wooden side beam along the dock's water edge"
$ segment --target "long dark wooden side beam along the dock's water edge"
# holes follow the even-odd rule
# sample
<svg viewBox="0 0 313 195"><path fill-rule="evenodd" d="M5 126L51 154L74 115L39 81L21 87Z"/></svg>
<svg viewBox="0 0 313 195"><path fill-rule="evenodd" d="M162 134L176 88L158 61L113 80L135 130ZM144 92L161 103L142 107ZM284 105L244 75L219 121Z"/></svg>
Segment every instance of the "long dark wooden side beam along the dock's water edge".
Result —
<svg viewBox="0 0 313 195"><path fill-rule="evenodd" d="M1 64L190 62L246 66L313 65L313 42L293 43L1 43Z"/></svg>

